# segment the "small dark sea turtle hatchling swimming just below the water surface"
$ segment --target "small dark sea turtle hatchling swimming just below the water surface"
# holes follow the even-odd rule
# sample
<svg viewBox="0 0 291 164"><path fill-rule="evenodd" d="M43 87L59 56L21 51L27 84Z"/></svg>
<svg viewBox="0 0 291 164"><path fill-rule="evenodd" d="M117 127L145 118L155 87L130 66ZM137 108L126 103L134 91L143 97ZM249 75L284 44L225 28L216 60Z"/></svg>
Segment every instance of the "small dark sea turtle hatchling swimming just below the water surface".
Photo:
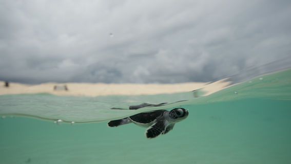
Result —
<svg viewBox="0 0 291 164"><path fill-rule="evenodd" d="M142 127L148 127L145 135L148 139L155 138L160 134L166 134L173 129L175 123L184 120L188 116L188 110L184 108L174 108L171 111L158 110L145 112L126 117L120 120L108 122L109 127L115 127L133 122Z"/></svg>

